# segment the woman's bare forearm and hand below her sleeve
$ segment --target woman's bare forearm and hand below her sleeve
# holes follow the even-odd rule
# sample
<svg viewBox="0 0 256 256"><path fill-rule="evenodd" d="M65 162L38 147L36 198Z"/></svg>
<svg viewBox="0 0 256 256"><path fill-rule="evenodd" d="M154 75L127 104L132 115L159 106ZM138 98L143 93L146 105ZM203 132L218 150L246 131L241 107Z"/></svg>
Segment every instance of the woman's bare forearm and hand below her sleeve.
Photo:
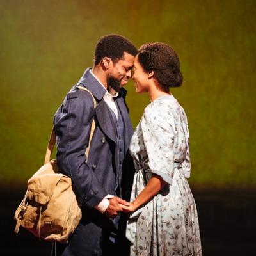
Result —
<svg viewBox="0 0 256 256"><path fill-rule="evenodd" d="M141 193L135 198L135 200L131 202L131 205L122 205L123 211L136 211L136 209L138 209L141 205L151 200L153 196L155 196L159 191L161 191L165 184L166 182L159 175L153 173L151 179L148 180L147 186L145 186L143 191L141 191Z"/></svg>

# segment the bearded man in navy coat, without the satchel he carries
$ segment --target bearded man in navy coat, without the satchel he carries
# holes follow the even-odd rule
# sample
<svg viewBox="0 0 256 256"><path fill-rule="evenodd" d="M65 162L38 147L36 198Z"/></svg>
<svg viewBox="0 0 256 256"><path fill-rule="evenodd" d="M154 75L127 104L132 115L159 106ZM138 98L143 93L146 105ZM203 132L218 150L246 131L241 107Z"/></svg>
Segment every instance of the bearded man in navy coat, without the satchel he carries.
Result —
<svg viewBox="0 0 256 256"><path fill-rule="evenodd" d="M72 179L82 220L68 244L55 243L52 255L117 255L116 234L122 204L122 164L133 134L124 86L131 78L136 47L120 35L106 35L95 47L93 68L85 70L54 115L57 163ZM90 93L97 101L94 108ZM84 152L95 131L88 161Z"/></svg>

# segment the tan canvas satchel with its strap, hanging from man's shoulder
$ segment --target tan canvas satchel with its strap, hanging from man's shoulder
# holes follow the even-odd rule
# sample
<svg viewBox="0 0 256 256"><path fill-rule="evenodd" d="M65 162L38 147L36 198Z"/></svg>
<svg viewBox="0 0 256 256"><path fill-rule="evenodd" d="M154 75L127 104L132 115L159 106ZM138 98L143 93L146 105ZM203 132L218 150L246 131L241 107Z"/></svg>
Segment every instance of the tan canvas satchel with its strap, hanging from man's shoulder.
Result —
<svg viewBox="0 0 256 256"><path fill-rule="evenodd" d="M92 95L88 89L77 87ZM93 102L95 107L94 97ZM93 118L86 156L90 150L94 130ZM56 159L50 161L55 142L56 135L52 128L45 164L28 180L24 199L15 211L15 233L19 232L21 225L39 239L68 243L68 237L79 224L82 213L72 189L72 180L58 171Z"/></svg>

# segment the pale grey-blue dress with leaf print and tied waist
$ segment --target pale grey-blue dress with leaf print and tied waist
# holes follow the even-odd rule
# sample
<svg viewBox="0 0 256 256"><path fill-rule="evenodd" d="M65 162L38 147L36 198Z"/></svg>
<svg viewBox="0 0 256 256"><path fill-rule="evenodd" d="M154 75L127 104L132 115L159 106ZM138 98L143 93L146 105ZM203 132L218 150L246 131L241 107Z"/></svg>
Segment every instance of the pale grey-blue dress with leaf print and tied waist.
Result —
<svg viewBox="0 0 256 256"><path fill-rule="evenodd" d="M147 204L130 214L126 236L131 255L202 255L198 215L189 188L189 131L182 106L173 97L145 108L132 136L136 173L131 201L155 173L167 182Z"/></svg>

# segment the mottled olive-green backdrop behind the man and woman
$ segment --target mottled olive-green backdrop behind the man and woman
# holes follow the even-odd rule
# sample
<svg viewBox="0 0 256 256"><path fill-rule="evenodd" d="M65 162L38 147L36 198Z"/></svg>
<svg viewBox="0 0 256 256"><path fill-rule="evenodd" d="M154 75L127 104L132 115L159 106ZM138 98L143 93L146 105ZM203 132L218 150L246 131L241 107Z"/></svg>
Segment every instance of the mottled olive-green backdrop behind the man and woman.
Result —
<svg viewBox="0 0 256 256"><path fill-rule="evenodd" d="M0 182L26 186L44 161L52 116L100 36L165 42L184 84L172 90L191 136L194 188L256 188L256 1L0 0ZM134 127L148 104L127 85Z"/></svg>

